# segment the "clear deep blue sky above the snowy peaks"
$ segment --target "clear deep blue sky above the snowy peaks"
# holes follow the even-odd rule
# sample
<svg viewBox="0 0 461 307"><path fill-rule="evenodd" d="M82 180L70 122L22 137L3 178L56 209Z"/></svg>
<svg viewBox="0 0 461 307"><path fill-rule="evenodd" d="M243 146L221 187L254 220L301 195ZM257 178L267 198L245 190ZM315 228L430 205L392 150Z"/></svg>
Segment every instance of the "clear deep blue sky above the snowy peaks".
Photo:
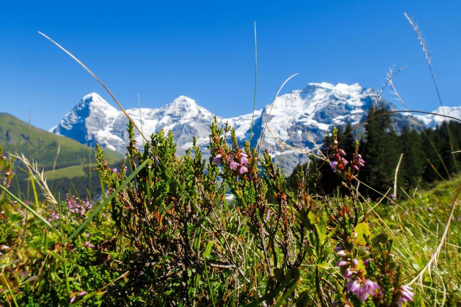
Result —
<svg viewBox="0 0 461 307"><path fill-rule="evenodd" d="M41 1L40 1L41 2ZM461 105L459 1L66 1L3 3L0 111L48 129L100 85L41 31L83 61L126 108L160 107L179 95L220 116L250 113L254 30L258 32L256 107L308 82L380 87L388 68L408 66L395 85L411 109L438 106L416 35L432 52L443 104ZM94 2L94 3L92 3ZM95 4L96 2L99 2ZM392 99L389 90L385 98Z"/></svg>

